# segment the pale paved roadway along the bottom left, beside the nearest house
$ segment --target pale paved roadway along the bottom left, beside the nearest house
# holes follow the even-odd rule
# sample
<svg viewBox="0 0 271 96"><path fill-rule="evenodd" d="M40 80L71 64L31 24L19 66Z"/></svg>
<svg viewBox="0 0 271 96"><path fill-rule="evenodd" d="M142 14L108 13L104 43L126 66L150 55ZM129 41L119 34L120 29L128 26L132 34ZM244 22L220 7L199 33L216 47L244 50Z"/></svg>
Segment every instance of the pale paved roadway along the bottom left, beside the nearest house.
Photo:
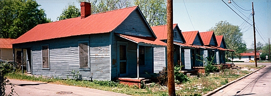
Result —
<svg viewBox="0 0 271 96"><path fill-rule="evenodd" d="M19 80L10 81L15 85L14 91L19 96L129 96L83 87ZM10 92L10 87L7 86L7 88L6 92L8 93Z"/></svg>

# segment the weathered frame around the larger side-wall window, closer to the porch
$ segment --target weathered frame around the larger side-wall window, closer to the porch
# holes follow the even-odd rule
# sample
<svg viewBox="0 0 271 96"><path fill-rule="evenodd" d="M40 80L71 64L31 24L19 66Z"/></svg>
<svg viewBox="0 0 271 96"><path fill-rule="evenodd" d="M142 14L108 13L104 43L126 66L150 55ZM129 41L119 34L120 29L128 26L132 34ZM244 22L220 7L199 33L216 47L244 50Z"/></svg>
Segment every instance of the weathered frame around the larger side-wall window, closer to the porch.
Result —
<svg viewBox="0 0 271 96"><path fill-rule="evenodd" d="M87 43L87 49L88 49L88 68L81 68L80 67L80 47L79 47L79 44L80 43ZM90 49L89 49L89 41L88 40L85 40L85 41L78 41L78 68L79 70L90 70Z"/></svg>

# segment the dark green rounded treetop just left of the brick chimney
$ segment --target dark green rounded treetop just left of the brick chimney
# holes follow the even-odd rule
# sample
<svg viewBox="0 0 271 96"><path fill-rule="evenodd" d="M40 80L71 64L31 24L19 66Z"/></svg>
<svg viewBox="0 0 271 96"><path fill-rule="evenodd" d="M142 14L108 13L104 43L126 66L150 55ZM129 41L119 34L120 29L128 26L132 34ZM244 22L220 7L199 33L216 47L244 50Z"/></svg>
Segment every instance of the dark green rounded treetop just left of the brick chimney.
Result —
<svg viewBox="0 0 271 96"><path fill-rule="evenodd" d="M69 4L68 7L63 9L61 15L57 17L58 20L64 20L74 17L80 17L81 13L79 8L76 8L74 4Z"/></svg>

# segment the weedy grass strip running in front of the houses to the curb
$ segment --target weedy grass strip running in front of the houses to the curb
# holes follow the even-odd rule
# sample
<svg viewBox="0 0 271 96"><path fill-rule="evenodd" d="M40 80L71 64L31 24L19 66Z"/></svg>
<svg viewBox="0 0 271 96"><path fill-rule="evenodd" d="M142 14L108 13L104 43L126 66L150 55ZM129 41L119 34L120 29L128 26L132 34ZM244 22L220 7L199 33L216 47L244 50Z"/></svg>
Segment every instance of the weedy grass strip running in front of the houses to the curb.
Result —
<svg viewBox="0 0 271 96"><path fill-rule="evenodd" d="M263 66L258 65L255 67L253 65L238 65L249 68L261 68ZM176 95L177 96L202 96L210 91L213 91L216 88L221 87L237 78L240 78L250 71L239 70L239 74L235 70L225 69L223 72L214 73L210 75L199 74L197 77L190 78L188 82L175 84ZM27 76L21 73L9 73L5 75L8 79L19 79L26 81L38 81L38 82L47 82L53 84L62 84L69 86L78 86L99 89L104 91L122 93L133 96L168 96L168 89L165 86L158 84L153 84L150 87L144 89L138 89L137 86L127 86L119 84L118 82L112 81L96 81L93 82L87 80L72 80L72 79L60 79L60 78L44 78L44 77L35 77ZM15 88L16 89L16 88Z"/></svg>

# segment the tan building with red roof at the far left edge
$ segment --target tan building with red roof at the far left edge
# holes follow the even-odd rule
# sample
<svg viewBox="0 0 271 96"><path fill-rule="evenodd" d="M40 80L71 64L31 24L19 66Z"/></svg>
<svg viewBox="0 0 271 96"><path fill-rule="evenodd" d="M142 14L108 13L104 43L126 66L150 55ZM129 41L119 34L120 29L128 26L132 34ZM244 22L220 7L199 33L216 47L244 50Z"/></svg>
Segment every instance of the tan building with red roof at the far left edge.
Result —
<svg viewBox="0 0 271 96"><path fill-rule="evenodd" d="M9 62L13 61L13 50L12 50L12 44L10 43L14 40L15 39L11 39L11 38L0 38L0 60L9 61ZM22 50L15 49L14 53L15 53L14 60L21 64ZM24 50L24 53L26 54L26 50ZM26 55L24 55L23 57L26 57ZM26 61L26 58L24 59ZM26 62L24 62L24 64L26 65Z"/></svg>

